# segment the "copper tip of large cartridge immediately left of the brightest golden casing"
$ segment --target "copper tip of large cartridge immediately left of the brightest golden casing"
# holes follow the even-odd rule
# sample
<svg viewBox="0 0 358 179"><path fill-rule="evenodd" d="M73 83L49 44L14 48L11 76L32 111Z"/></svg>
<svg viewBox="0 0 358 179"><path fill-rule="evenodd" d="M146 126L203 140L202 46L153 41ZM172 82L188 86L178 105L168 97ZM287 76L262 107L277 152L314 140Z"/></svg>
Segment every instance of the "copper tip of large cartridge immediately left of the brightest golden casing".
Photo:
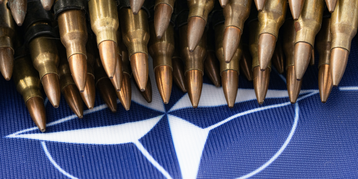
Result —
<svg viewBox="0 0 358 179"><path fill-rule="evenodd" d="M69 68L79 92L83 92L87 78L87 59L83 54L74 54L68 58Z"/></svg>

